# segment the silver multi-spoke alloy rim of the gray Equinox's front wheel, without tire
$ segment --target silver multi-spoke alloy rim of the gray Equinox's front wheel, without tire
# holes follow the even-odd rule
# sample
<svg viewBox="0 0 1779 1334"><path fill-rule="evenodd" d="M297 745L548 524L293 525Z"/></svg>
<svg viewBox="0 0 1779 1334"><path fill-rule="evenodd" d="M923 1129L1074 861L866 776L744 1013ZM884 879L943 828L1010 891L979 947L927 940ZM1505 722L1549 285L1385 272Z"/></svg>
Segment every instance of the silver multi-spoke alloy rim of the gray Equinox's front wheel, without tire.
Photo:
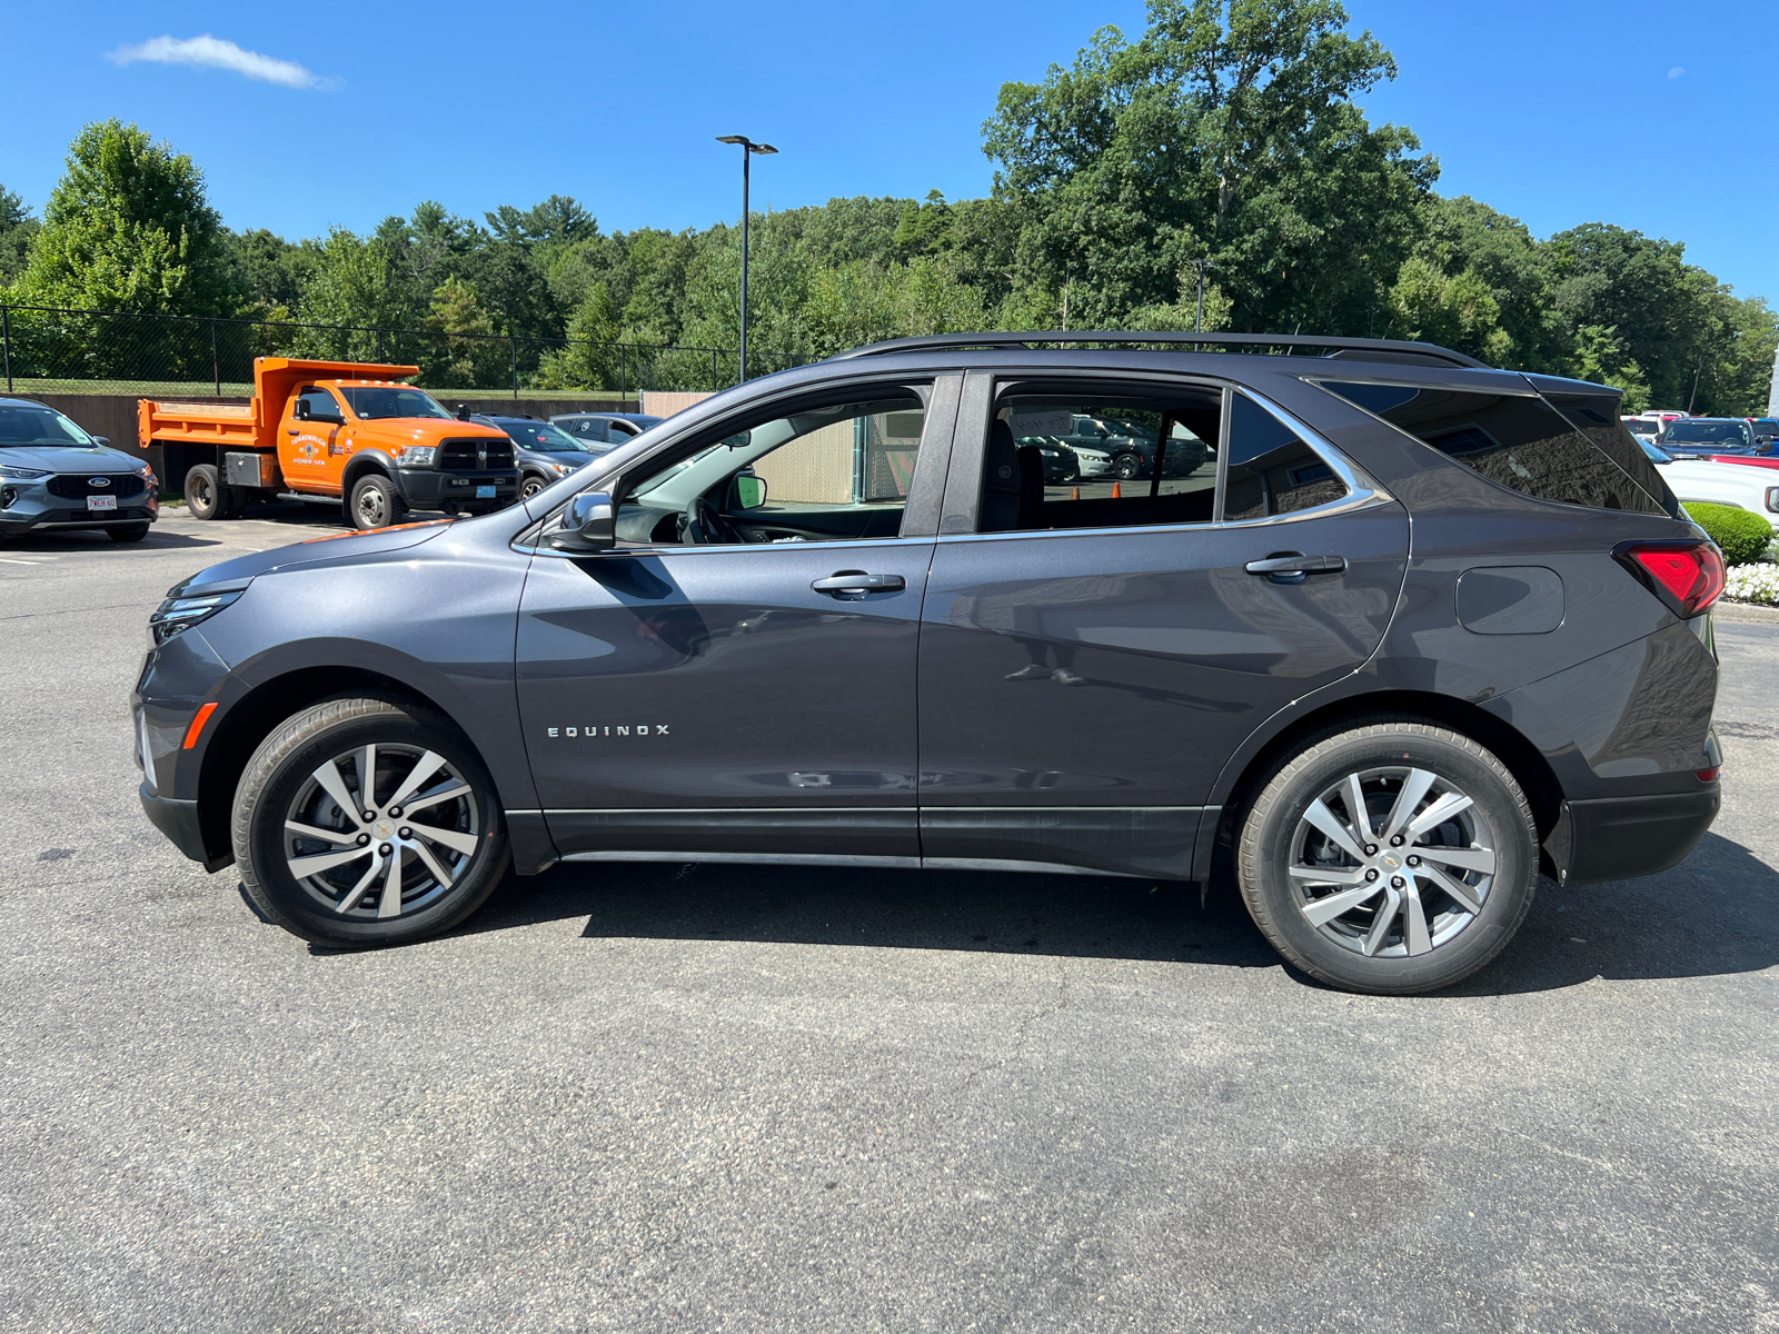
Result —
<svg viewBox="0 0 1779 1334"><path fill-rule="evenodd" d="M463 879L480 845L475 788L436 751L359 745L297 788L285 813L292 879L356 921L400 918Z"/></svg>

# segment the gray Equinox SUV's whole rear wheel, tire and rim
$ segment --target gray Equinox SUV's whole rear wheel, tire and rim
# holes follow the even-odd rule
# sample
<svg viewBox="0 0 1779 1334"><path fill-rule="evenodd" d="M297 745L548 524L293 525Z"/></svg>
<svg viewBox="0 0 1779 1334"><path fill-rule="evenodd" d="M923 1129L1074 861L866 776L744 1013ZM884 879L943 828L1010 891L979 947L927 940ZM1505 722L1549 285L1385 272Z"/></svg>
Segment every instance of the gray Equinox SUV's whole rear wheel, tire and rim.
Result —
<svg viewBox="0 0 1779 1334"><path fill-rule="evenodd" d="M1236 879L1300 969L1407 994L1501 952L1532 907L1537 847L1525 793L1494 754L1391 720L1318 740L1272 775L1244 820Z"/></svg>

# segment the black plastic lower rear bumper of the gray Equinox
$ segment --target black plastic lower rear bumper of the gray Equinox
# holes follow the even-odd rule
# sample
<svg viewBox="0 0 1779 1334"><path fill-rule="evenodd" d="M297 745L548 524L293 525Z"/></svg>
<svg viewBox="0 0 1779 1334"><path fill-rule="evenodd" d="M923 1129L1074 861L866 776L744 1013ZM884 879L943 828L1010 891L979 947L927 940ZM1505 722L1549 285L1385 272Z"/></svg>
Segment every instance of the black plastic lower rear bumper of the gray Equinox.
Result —
<svg viewBox="0 0 1779 1334"><path fill-rule="evenodd" d="M1544 850L1566 886L1654 875L1699 845L1720 804L1717 783L1701 783L1697 792L1564 802Z"/></svg>

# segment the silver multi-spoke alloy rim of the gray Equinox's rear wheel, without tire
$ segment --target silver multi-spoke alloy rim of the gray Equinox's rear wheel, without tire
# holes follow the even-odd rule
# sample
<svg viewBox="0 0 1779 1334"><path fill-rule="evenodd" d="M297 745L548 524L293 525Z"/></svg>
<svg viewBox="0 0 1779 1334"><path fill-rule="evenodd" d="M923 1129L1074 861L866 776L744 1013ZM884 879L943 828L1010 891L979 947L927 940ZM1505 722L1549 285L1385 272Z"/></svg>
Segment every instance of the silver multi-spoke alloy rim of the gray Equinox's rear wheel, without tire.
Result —
<svg viewBox="0 0 1779 1334"><path fill-rule="evenodd" d="M1494 888L1494 829L1446 777L1411 765L1331 783L1297 822L1293 902L1320 936L1368 959L1452 944Z"/></svg>

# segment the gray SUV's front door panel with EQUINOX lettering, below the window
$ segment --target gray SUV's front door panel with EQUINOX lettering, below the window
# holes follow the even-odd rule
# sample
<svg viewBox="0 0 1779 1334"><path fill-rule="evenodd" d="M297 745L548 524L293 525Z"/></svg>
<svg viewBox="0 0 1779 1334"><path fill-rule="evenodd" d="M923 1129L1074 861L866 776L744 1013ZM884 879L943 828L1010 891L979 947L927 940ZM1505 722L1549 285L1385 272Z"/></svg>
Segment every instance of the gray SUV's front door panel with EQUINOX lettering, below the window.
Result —
<svg viewBox="0 0 1779 1334"><path fill-rule="evenodd" d="M557 847L918 856L930 559L930 539L539 555L519 608L519 711ZM840 571L904 587L809 587ZM623 815L639 808L655 816Z"/></svg>

